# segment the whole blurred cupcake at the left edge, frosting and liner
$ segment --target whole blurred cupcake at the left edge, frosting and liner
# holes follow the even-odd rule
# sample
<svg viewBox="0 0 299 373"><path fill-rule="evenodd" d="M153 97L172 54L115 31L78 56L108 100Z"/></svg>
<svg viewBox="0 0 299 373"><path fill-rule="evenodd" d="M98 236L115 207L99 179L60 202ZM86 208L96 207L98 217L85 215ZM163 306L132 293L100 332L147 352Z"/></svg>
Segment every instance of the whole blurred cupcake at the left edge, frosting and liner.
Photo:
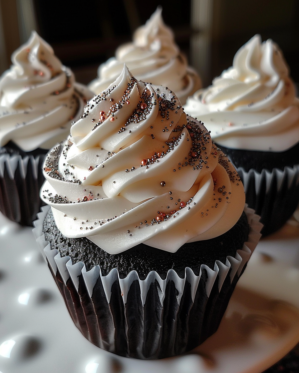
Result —
<svg viewBox="0 0 299 373"><path fill-rule="evenodd" d="M36 32L0 78L0 211L32 225L40 210L44 156L65 139L93 94Z"/></svg>

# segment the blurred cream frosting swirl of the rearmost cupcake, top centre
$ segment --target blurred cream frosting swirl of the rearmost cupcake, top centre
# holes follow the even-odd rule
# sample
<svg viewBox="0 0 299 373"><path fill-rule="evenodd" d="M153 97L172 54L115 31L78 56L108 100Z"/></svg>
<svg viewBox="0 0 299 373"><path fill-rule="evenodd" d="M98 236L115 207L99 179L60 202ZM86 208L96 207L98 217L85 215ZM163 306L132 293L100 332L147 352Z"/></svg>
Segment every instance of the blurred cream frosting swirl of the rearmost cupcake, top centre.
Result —
<svg viewBox="0 0 299 373"><path fill-rule="evenodd" d="M161 13L162 8L158 7L145 25L135 31L133 42L118 47L115 57L99 66L98 78L89 85L92 91L99 94L106 90L120 75L124 63L137 79L175 91L183 104L201 88L198 74L188 66Z"/></svg>

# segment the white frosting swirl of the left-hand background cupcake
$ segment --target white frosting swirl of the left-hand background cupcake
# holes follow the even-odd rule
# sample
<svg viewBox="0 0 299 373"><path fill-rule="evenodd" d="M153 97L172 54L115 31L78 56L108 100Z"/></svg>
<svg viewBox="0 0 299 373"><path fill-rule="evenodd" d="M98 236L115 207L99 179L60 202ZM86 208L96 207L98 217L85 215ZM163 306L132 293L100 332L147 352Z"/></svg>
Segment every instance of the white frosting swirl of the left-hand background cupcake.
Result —
<svg viewBox="0 0 299 373"><path fill-rule="evenodd" d="M0 146L12 141L24 151L49 149L68 136L93 94L75 83L35 31L12 63L0 78Z"/></svg>

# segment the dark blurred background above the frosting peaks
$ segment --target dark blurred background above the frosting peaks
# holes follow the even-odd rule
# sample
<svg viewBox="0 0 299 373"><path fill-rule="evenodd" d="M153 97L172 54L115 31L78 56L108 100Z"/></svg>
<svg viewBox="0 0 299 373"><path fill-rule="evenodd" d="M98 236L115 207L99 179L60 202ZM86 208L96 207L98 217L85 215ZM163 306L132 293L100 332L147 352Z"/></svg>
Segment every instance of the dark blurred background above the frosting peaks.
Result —
<svg viewBox="0 0 299 373"><path fill-rule="evenodd" d="M235 52L255 34L278 43L299 82L298 0L0 0L0 73L36 29L77 81L87 84L159 4L204 86L232 65Z"/></svg>

